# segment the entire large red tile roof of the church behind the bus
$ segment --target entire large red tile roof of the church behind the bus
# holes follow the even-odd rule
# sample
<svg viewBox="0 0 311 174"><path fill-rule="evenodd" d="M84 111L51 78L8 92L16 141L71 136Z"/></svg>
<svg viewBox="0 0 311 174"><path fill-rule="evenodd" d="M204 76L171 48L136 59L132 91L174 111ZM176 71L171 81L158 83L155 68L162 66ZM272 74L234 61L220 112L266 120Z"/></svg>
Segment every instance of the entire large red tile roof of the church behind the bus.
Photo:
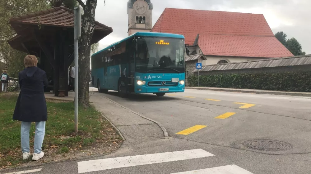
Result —
<svg viewBox="0 0 311 174"><path fill-rule="evenodd" d="M261 14L165 8L151 32L175 33L198 45L205 55L293 56L275 37Z"/></svg>

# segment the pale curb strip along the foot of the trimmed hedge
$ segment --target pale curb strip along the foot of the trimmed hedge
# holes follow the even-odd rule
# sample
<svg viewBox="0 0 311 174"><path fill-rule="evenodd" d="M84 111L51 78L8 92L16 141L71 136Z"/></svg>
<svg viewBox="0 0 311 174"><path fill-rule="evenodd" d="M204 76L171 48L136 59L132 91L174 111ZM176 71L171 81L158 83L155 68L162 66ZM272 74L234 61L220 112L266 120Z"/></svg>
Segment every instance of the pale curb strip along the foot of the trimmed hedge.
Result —
<svg viewBox="0 0 311 174"><path fill-rule="evenodd" d="M311 93L299 93L299 92L282 92L282 91L250 91L250 90L232 90L232 89L215 89L215 88L200 88L200 87L186 87L186 89L198 89L207 91L224 91L224 92L242 92L252 94L270 94L270 95L282 95L282 96L305 96L311 97Z"/></svg>

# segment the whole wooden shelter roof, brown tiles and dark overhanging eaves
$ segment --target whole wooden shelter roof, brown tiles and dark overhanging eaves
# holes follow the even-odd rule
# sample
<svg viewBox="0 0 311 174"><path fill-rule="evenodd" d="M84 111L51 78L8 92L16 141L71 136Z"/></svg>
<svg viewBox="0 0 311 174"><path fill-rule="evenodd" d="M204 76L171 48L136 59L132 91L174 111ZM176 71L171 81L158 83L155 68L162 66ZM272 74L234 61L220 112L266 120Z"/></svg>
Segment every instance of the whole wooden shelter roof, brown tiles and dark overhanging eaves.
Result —
<svg viewBox="0 0 311 174"><path fill-rule="evenodd" d="M46 35L49 35L51 31L69 30L69 33L72 33L72 36L69 38L72 38L73 44L74 12L67 7L54 7L23 16L13 17L9 20L9 24L16 31L17 35L9 39L8 43L11 47L19 51L29 52L25 46L23 46L23 43L25 45L27 44L29 47L36 45L35 38L32 37L31 33L34 29L39 29L39 31L41 30L41 32L46 33ZM112 32L113 29L111 27L95 21L95 31L91 44L97 43ZM45 39L48 38L49 37ZM53 36L51 36L51 38L53 38Z"/></svg>

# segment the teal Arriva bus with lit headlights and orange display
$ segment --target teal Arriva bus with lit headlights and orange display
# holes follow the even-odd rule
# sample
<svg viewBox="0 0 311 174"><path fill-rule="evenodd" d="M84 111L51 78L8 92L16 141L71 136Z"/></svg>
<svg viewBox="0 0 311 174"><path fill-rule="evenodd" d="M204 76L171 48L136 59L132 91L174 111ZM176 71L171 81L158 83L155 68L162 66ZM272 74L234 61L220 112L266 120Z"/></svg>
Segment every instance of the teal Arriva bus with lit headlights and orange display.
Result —
<svg viewBox="0 0 311 174"><path fill-rule="evenodd" d="M121 97L184 92L185 48L183 35L137 32L92 55L92 85Z"/></svg>

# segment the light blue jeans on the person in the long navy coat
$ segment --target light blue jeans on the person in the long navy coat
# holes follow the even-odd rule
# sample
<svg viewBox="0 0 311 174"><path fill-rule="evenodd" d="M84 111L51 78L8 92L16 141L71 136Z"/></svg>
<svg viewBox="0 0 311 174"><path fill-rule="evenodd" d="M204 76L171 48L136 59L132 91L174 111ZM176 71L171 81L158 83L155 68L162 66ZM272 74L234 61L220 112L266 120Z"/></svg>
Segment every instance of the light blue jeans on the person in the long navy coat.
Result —
<svg viewBox="0 0 311 174"><path fill-rule="evenodd" d="M29 132L31 122L21 122L21 150L23 153L30 152L29 148ZM41 148L45 134L45 121L36 122L34 150L36 154L41 153Z"/></svg>

